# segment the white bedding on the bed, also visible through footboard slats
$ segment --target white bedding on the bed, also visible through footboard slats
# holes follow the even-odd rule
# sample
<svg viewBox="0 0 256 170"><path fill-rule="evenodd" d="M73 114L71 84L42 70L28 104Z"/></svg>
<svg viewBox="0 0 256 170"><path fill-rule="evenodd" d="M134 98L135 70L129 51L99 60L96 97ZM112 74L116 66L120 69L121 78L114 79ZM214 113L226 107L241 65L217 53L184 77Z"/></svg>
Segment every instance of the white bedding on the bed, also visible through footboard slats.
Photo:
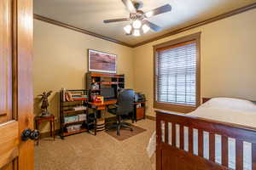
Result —
<svg viewBox="0 0 256 170"><path fill-rule="evenodd" d="M199 116L207 119L232 122L250 127L256 126L256 105L242 99L215 98L201 105L196 111L189 113L192 116ZM172 123L169 123L169 141L172 141ZM179 125L176 126L177 147L179 147ZM162 126L162 137L164 136L164 126ZM209 136L204 132L204 157L209 158ZM162 138L164 139L164 138ZM188 128L184 127L184 150L188 150ZM236 140L229 138L229 167L236 167ZM252 149L251 144L243 143L243 169L252 169ZM155 150L155 133L148 143L148 156L152 156ZM198 152L197 129L194 129L194 154ZM215 135L215 161L221 163L221 136Z"/></svg>

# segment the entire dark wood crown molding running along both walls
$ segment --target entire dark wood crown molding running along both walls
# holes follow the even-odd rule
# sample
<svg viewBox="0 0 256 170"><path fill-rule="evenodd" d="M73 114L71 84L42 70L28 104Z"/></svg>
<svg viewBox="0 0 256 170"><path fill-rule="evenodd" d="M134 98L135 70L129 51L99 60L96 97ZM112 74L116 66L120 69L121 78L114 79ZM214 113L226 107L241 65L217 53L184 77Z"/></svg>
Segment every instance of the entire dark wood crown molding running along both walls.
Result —
<svg viewBox="0 0 256 170"><path fill-rule="evenodd" d="M249 4L249 5L241 7L241 8L236 8L236 9L230 11L230 12L227 12L227 13L224 13L224 14L219 14L217 16L214 16L214 17L210 18L210 19L203 20L201 22L192 24L190 26L185 26L183 28L180 28L180 29L177 29L177 30L174 30L174 31L167 32L166 34L161 35L159 37L154 37L154 38L148 39L148 40L143 41L143 42L138 42L137 44L134 44L134 45L132 45L130 43L126 43L126 42L121 42L121 41L113 39L111 37L102 36L102 35L97 34L95 32L87 31L87 30L84 30L82 28L78 28L76 26L71 26L71 25L68 25L66 23L63 23L63 22L60 22L60 21L57 21L57 20L52 20L52 19L49 19L49 18L44 17L44 16L39 15L39 14L34 14L34 19L42 20L44 22L48 22L48 23L56 25L56 26L62 26L62 27L65 27L65 28L73 30L73 31L79 31L79 32L82 32L84 34L87 34L87 35L90 35L90 36L93 36L93 37L98 37L98 38L101 38L101 39L109 41L109 42L115 42L115 43L118 43L120 45L124 45L124 46L129 47L129 48L137 48L137 47L142 46L146 43L154 42L154 41L160 40L160 39L165 38L165 37L170 37L170 36L173 36L173 35L178 34L180 32L188 31L190 29L196 28L198 26L207 25L207 24L212 23L214 21L223 20L225 18L228 18L228 17L236 15L236 14L241 14L241 13L246 12L248 10L251 10L253 8L256 8L256 3L252 3L252 4Z"/></svg>

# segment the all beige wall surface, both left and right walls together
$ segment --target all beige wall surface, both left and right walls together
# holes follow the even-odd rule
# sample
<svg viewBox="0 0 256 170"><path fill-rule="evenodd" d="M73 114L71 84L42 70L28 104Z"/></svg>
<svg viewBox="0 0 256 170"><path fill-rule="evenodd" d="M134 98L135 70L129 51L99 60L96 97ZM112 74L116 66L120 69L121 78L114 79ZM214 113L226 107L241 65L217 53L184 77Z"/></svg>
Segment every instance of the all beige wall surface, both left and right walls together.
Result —
<svg viewBox="0 0 256 170"><path fill-rule="evenodd" d="M147 114L153 108L153 46L201 31L201 96L229 96L256 100L256 9L224 20L149 42L137 48L90 37L34 20L34 95L53 90L49 111L59 117L58 92L84 88L87 49L118 54L118 73L126 87L146 94ZM35 114L38 114L35 99ZM43 125L43 132L49 127Z"/></svg>

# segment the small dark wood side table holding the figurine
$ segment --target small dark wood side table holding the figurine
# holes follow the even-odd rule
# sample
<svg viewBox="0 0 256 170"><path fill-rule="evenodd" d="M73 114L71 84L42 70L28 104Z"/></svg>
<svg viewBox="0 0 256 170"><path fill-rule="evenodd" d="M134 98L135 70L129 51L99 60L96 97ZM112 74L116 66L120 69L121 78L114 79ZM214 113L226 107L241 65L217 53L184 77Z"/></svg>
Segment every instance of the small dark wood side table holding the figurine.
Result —
<svg viewBox="0 0 256 170"><path fill-rule="evenodd" d="M36 129L39 130L39 125L41 122L49 122L50 126L50 136L53 137L55 140L55 116L50 115L50 116L36 116L35 117L35 122L36 122ZM39 144L39 139L41 139L41 133L38 138L38 143Z"/></svg>

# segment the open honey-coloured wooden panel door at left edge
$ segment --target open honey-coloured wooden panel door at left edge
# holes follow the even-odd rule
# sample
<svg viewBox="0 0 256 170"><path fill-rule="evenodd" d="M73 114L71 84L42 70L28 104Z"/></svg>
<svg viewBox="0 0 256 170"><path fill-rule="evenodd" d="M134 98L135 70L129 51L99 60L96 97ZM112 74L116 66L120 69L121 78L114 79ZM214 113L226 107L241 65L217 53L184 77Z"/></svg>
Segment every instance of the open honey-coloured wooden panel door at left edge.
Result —
<svg viewBox="0 0 256 170"><path fill-rule="evenodd" d="M0 0L0 169L33 169L32 0Z"/></svg>

